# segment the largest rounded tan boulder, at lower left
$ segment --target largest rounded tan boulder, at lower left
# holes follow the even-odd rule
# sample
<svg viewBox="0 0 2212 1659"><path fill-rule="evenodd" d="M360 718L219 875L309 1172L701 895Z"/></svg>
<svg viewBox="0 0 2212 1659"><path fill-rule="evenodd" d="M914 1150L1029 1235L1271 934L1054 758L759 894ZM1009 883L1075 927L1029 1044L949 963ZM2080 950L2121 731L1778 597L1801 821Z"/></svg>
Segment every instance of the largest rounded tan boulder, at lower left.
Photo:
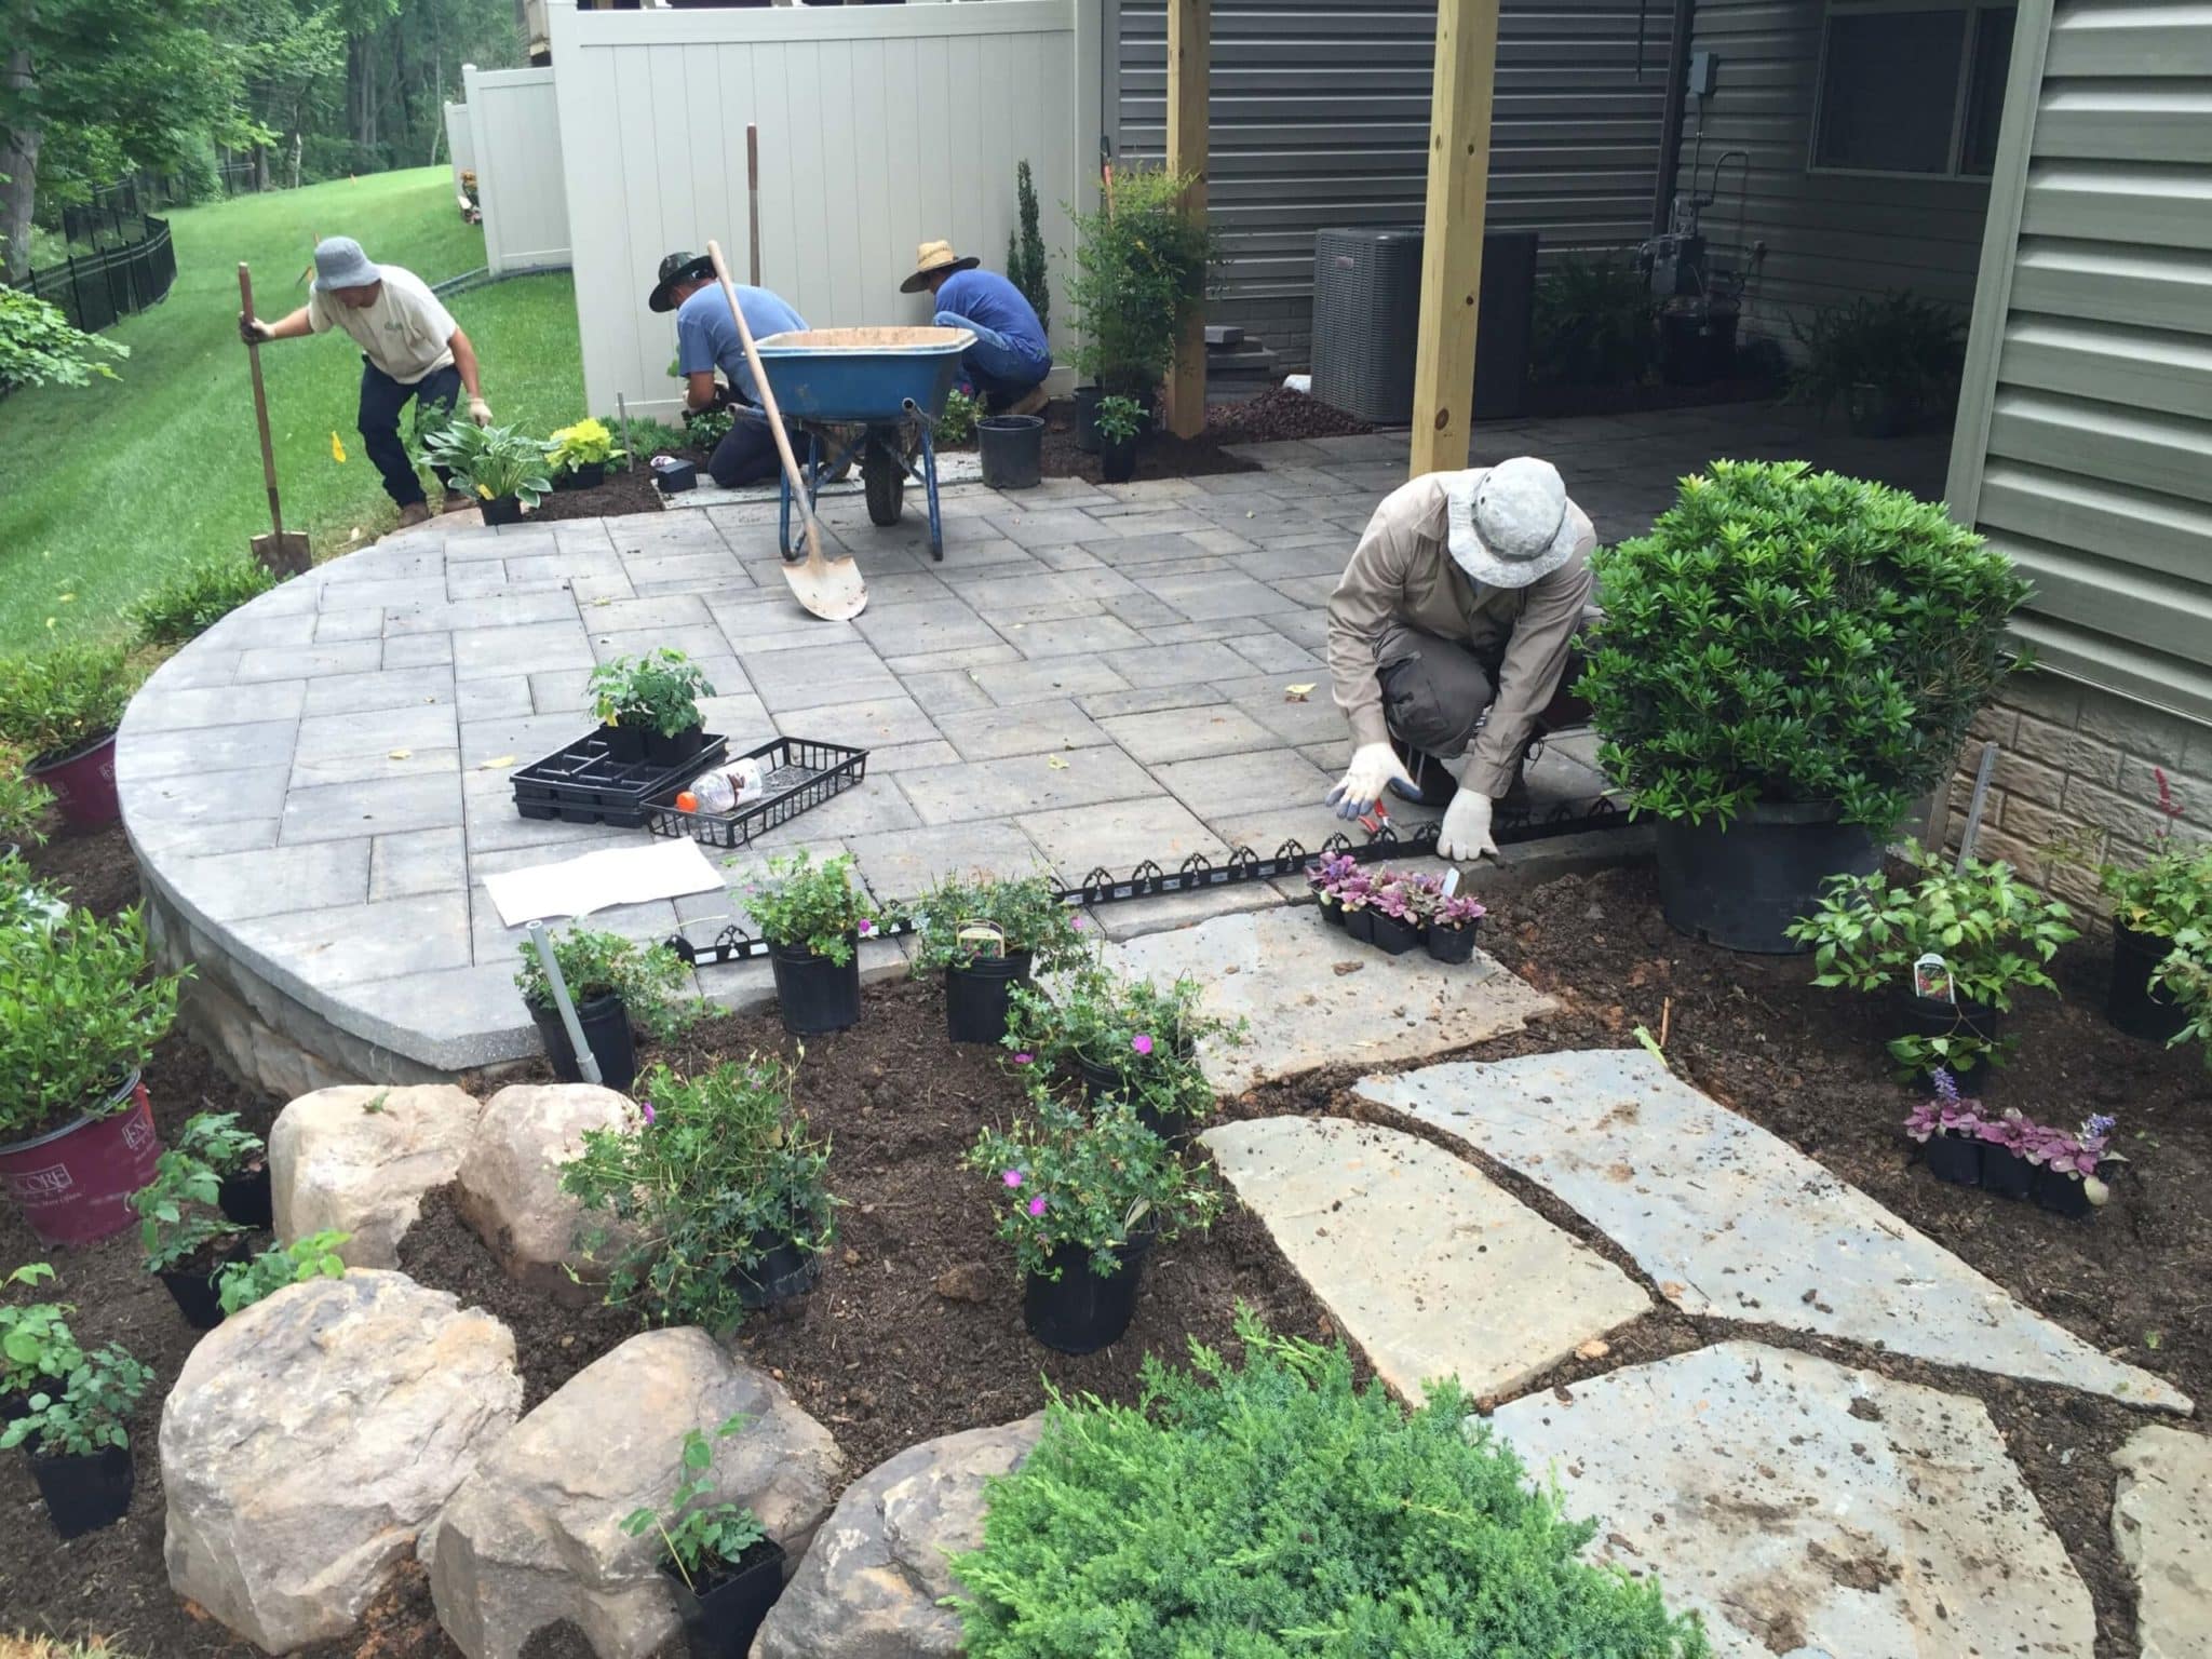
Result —
<svg viewBox="0 0 2212 1659"><path fill-rule="evenodd" d="M491 1314L394 1272L279 1290L161 1407L168 1582L270 1652L345 1635L520 1411Z"/></svg>

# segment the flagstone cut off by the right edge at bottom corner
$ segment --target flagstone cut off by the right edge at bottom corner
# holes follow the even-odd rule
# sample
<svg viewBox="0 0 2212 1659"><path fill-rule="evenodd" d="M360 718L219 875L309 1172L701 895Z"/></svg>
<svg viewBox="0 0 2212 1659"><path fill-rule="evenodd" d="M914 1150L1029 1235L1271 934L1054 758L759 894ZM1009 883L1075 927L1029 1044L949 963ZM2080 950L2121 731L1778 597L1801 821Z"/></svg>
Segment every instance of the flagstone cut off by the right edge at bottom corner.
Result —
<svg viewBox="0 0 2212 1659"><path fill-rule="evenodd" d="M2112 1453L2112 1544L2135 1573L2143 1659L2212 1655L2212 1440L2137 1429Z"/></svg>

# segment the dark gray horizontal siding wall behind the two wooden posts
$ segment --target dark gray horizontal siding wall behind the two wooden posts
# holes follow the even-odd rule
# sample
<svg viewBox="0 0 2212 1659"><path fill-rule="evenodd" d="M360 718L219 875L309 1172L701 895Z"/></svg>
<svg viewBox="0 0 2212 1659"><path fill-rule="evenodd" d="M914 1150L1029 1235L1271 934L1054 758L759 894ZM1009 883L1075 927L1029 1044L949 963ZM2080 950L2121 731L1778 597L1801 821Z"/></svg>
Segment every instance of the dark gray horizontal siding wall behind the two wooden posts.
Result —
<svg viewBox="0 0 2212 1659"><path fill-rule="evenodd" d="M1666 0L1504 0L1491 226L1546 250L1650 230L1666 104ZM1110 20L1108 20L1108 27ZM1166 0L1119 7L1119 148L1166 148ZM1208 201L1228 257L1214 321L1307 356L1314 232L1420 223L1433 0L1214 0Z"/></svg>

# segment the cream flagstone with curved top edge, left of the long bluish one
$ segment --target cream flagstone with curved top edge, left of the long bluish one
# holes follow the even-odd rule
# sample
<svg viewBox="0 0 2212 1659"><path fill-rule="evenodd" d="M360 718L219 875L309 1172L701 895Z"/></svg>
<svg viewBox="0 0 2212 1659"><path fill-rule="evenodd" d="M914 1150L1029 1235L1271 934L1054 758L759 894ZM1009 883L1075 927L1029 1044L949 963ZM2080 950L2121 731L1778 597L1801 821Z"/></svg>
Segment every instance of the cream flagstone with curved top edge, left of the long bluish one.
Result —
<svg viewBox="0 0 2212 1659"><path fill-rule="evenodd" d="M1376 1374L1409 1400L1442 1376L1478 1400L1511 1394L1650 1310L1610 1261L1416 1135L1345 1117L1263 1117L1201 1139Z"/></svg>

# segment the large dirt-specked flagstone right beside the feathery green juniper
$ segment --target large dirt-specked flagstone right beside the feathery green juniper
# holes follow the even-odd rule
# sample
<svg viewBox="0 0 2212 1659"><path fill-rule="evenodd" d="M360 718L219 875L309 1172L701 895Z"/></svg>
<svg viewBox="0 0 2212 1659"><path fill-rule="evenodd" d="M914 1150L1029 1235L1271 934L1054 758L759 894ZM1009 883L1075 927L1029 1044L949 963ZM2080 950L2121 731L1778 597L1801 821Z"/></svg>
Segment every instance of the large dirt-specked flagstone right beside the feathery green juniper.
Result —
<svg viewBox="0 0 2212 1659"><path fill-rule="evenodd" d="M1491 1427L1714 1659L2090 1659L2097 1613L1980 1400L1763 1343L1533 1394Z"/></svg>

